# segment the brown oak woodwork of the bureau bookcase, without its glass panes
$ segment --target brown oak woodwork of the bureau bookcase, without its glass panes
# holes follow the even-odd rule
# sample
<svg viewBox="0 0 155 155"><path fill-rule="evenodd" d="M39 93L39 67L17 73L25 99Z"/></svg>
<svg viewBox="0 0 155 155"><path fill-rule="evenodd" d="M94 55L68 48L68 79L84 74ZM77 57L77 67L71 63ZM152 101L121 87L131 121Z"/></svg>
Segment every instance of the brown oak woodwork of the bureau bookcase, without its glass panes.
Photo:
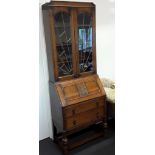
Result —
<svg viewBox="0 0 155 155"><path fill-rule="evenodd" d="M76 134L81 130L85 130L91 125L96 126L97 124L100 124L102 127L107 126L106 95L96 70L95 4L87 2L51 1L44 4L42 10L48 59L49 92L54 140L58 142L59 146L63 149L64 154L68 154L68 151L74 147L103 136L104 133L96 132L91 136L83 137L83 139L79 137L76 138L74 142L73 140L70 140L71 135ZM62 49L62 47L58 48L60 45L57 39L60 35L57 35L55 27L55 19L60 12L61 14L66 13L69 17L67 26L71 37L70 47L72 55L70 55L70 62L72 62L72 73L65 75L60 74L59 64L62 62L58 61L60 59L59 52L61 52L61 50L63 52L64 49ZM84 72L81 72L81 64L79 64L78 15L80 13L89 14L92 21L91 61L93 69ZM57 26L58 29L62 29L60 23L58 23ZM62 44L63 46L66 46L65 42L62 42ZM67 59L68 58L66 58L66 60ZM66 61L63 63L65 64Z"/></svg>

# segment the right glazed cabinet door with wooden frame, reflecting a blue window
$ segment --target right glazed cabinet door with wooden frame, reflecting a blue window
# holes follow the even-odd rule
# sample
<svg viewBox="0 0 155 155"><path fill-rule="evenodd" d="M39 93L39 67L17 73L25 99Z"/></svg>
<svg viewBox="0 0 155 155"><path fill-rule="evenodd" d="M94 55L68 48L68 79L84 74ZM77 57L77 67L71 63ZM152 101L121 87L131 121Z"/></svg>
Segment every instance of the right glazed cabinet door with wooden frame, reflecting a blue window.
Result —
<svg viewBox="0 0 155 155"><path fill-rule="evenodd" d="M96 73L95 8L76 9L78 76Z"/></svg>

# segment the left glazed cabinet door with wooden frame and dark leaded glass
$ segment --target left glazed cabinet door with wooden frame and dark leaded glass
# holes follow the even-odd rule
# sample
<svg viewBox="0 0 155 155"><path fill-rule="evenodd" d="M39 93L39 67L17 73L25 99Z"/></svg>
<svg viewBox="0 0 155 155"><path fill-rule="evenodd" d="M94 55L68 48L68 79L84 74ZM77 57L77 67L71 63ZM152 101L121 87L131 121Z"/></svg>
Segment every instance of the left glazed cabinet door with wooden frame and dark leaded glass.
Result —
<svg viewBox="0 0 155 155"><path fill-rule="evenodd" d="M70 79L75 74L72 8L53 7L50 15L55 78Z"/></svg>

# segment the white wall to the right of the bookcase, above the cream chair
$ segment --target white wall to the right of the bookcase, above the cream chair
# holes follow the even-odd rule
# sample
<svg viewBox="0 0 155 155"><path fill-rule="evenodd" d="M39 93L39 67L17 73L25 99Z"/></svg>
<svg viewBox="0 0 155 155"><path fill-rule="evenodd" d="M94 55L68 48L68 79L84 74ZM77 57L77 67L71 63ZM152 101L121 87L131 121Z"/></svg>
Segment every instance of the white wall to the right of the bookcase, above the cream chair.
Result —
<svg viewBox="0 0 155 155"><path fill-rule="evenodd" d="M114 77L114 0L96 0L97 70L100 77Z"/></svg>

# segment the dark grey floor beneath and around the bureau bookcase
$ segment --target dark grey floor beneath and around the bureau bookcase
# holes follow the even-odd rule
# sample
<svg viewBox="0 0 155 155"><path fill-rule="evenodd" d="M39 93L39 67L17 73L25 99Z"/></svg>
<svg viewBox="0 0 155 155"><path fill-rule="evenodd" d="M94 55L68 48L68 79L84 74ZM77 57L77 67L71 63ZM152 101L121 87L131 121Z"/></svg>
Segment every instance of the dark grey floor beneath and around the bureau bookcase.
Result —
<svg viewBox="0 0 155 155"><path fill-rule="evenodd" d="M39 142L39 155L63 155L50 138ZM70 155L115 155L115 129L109 127L107 135L70 152Z"/></svg>

